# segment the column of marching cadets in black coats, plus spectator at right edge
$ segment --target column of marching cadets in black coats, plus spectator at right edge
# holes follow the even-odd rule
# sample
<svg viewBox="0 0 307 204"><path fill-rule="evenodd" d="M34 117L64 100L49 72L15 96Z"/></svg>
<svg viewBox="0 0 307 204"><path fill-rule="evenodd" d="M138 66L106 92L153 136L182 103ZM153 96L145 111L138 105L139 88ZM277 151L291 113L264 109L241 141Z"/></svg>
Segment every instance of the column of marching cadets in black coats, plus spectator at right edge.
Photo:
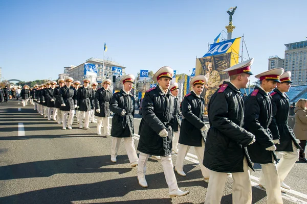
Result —
<svg viewBox="0 0 307 204"><path fill-rule="evenodd" d="M202 96L208 79L204 75L194 77L190 81L192 91L180 104L178 84L171 84L173 69L160 68L152 78L158 86L147 90L140 103L139 157L134 145L135 98L131 94L134 75L122 78L123 88L114 94L108 79L97 90L97 83L91 84L89 79L84 79L81 86L69 77L35 85L31 91L25 85L20 95L23 106L30 100L34 110L62 124L63 130L72 129L74 116L80 129L89 129L89 122L96 122L97 135L101 135L103 126L104 135L112 136L112 162L117 162L123 138L130 166L137 167L137 180L144 188L148 187L147 160L156 156L163 166L169 196L187 195L189 191L178 188L175 172L187 176L183 163L192 146L204 180L209 182L205 203L221 202L230 173L233 203L251 203L250 170L254 170L254 163L261 165L259 186L266 189L267 203L282 203L281 188L291 189L284 179L298 158L307 162L304 154L307 100L298 100L292 130L288 126L290 104L286 94L292 83L291 72L275 68L257 74L255 78L260 80L260 85L243 98L240 88L247 88L253 74L252 64L250 59L224 70L230 78L220 84L208 102L209 129L204 122L206 103ZM110 131L111 112L114 116ZM276 152L281 153L279 162ZM176 165L172 163L172 154L178 154Z"/></svg>

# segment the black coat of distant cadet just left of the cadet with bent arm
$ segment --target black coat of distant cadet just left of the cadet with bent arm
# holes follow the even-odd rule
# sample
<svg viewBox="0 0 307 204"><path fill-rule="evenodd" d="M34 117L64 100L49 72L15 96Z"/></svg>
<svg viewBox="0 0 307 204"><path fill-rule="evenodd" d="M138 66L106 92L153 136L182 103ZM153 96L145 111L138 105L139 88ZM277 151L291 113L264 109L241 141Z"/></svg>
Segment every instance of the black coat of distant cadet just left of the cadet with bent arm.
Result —
<svg viewBox="0 0 307 204"><path fill-rule="evenodd" d="M98 89L95 93L95 109L100 109L100 113L95 111L95 116L109 117L110 116L110 103L112 98L111 90L105 90L103 87Z"/></svg>

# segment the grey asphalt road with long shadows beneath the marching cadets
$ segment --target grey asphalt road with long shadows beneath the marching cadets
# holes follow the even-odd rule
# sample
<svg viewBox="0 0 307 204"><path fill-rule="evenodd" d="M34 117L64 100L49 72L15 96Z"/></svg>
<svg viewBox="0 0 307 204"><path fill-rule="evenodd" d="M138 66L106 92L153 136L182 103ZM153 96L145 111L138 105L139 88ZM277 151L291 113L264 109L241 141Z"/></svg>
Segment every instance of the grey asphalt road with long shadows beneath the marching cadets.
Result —
<svg viewBox="0 0 307 204"><path fill-rule="evenodd" d="M117 163L112 163L111 137L97 136L95 123L90 123L90 130L80 130L75 120L73 130L61 130L61 125L40 116L32 105L21 107L20 102L0 104L0 203L204 202L208 183L193 148L184 163L187 176L176 174L179 188L190 194L170 199L159 161L148 160L148 188L142 188L123 142ZM140 121L135 118L136 134ZM138 139L136 135L136 147ZM176 157L172 156L173 163ZM260 168L255 164L252 172L253 203L266 203L266 192L257 186ZM306 164L295 164L285 180L293 190L282 191L284 203L307 203L306 172ZM232 203L231 176L222 203Z"/></svg>

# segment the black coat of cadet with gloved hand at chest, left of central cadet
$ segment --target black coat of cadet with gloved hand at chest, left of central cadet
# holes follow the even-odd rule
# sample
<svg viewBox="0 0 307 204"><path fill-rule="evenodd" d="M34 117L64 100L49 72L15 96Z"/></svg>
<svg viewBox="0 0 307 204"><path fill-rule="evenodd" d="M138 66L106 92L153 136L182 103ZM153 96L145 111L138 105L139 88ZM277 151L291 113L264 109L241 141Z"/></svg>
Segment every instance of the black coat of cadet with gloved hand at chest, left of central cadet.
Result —
<svg viewBox="0 0 307 204"><path fill-rule="evenodd" d="M112 118L112 137L133 137L134 136L134 100L131 93L126 94L122 89L113 94L110 109L114 116ZM121 115L125 110L126 114ZM101 111L101 109L100 109Z"/></svg>

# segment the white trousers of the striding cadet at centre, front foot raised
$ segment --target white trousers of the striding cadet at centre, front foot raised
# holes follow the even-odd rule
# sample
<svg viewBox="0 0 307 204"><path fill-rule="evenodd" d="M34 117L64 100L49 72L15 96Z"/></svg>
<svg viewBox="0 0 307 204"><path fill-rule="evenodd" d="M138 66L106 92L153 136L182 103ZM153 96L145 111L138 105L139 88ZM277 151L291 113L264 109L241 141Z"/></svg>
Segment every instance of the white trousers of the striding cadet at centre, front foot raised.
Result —
<svg viewBox="0 0 307 204"><path fill-rule="evenodd" d="M137 174L139 177L145 177L146 175L146 163L149 158L149 155L140 152L139 155L139 163L138 163L138 171ZM171 161L171 155L166 157L161 156L161 164L163 166L164 176L166 183L168 185L168 191L178 190L176 176L173 170L173 164Z"/></svg>

